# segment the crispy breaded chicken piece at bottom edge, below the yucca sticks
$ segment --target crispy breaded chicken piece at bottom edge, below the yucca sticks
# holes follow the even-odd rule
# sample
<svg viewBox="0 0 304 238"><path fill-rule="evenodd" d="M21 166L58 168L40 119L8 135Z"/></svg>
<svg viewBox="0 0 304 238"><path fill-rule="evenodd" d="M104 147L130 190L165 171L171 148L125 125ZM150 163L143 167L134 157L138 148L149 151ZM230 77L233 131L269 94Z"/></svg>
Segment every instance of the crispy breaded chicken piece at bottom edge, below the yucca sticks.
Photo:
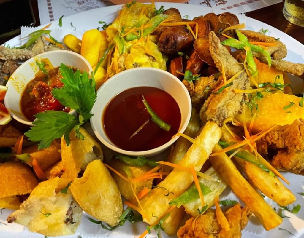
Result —
<svg viewBox="0 0 304 238"><path fill-rule="evenodd" d="M242 208L238 203L224 212L230 230L226 231L219 225L214 209L208 209L205 214L186 221L178 232L178 238L238 238L242 236L241 231L247 225L251 211L248 207ZM193 221L195 224L193 226ZM193 230L194 227L194 230Z"/></svg>

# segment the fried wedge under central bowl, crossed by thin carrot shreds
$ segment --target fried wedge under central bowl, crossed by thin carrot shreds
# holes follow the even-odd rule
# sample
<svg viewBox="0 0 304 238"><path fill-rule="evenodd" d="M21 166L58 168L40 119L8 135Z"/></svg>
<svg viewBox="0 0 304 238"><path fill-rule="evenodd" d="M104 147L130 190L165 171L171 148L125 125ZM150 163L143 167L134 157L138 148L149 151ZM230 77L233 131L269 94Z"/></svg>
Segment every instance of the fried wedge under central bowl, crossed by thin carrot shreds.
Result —
<svg viewBox="0 0 304 238"><path fill-rule="evenodd" d="M126 178L130 178L130 179L139 177L151 169L151 167L149 167L147 165L132 166L132 165L127 165L126 163L123 163L119 160L112 160L109 163L109 165L112 168L114 168L115 170L117 170L119 173L124 175ZM131 182L126 181L125 179L121 178L114 172L111 172L111 175L113 176L121 195L128 201L132 201L135 198L135 196L132 191ZM141 191L141 189L143 189L145 187L150 189L152 187L152 180L151 179L142 180L142 181L138 181L138 182L133 182L132 184L133 184L133 188L136 187L135 192L137 194Z"/></svg>

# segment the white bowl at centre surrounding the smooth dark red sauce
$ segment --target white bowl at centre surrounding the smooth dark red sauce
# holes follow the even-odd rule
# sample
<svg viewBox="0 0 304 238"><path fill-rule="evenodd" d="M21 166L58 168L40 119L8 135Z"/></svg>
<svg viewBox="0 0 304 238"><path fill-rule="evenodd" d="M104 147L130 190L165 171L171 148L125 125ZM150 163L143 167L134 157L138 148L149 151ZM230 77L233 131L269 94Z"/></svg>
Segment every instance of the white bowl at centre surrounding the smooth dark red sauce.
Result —
<svg viewBox="0 0 304 238"><path fill-rule="evenodd" d="M178 137L172 138L166 144L147 151L127 151L118 148L107 137L102 122L102 115L109 101L120 92L133 87L150 86L160 88L169 93L181 110L181 125L178 132L183 133L190 121L191 99L181 81L171 73L155 68L134 68L114 75L97 91L97 100L92 108L91 126L97 138L113 151L130 156L154 156L172 145Z"/></svg>

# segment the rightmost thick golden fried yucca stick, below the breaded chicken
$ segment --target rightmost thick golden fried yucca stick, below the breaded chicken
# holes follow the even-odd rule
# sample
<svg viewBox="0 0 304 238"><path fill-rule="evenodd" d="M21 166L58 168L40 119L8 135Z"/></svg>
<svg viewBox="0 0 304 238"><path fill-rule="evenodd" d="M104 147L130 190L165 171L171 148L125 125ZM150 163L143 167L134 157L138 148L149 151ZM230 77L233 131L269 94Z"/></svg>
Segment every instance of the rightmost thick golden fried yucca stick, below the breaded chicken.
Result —
<svg viewBox="0 0 304 238"><path fill-rule="evenodd" d="M295 196L277 177L271 176L257 165L245 161L244 159L235 156L234 160L244 170L250 183L263 192L268 198L274 200L281 206L286 206L295 202Z"/></svg>

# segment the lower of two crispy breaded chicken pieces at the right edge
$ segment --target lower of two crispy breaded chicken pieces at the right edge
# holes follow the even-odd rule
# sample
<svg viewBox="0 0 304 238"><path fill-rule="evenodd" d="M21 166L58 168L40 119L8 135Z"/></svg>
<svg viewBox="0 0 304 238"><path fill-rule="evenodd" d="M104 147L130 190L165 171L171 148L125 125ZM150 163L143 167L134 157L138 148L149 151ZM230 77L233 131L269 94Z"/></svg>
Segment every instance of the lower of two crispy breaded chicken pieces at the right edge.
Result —
<svg viewBox="0 0 304 238"><path fill-rule="evenodd" d="M304 175L304 151L279 150L271 165L280 171Z"/></svg>

